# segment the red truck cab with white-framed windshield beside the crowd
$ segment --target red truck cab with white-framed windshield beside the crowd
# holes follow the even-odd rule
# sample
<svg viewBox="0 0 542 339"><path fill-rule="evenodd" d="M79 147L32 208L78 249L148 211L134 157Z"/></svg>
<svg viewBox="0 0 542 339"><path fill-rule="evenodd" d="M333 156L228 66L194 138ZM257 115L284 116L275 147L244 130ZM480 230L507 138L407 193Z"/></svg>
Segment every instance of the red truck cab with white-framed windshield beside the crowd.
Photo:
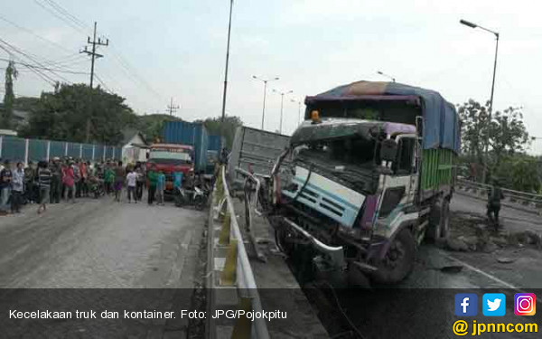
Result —
<svg viewBox="0 0 542 339"><path fill-rule="evenodd" d="M194 149L192 146L176 144L154 144L150 147L146 163L147 171L155 165L157 172L165 174L165 191L173 192L173 173L180 172L184 177L194 171Z"/></svg>

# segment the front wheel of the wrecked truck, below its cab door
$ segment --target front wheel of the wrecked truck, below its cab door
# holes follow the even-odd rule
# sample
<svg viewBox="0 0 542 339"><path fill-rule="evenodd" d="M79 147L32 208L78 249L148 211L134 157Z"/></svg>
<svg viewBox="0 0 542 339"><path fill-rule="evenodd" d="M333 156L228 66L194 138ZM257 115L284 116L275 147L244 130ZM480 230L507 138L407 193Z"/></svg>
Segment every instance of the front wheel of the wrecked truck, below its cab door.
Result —
<svg viewBox="0 0 542 339"><path fill-rule="evenodd" d="M386 256L377 265L378 271L373 273L373 280L380 284L397 284L406 278L414 268L415 251L412 233L408 229L399 231L391 241Z"/></svg>

